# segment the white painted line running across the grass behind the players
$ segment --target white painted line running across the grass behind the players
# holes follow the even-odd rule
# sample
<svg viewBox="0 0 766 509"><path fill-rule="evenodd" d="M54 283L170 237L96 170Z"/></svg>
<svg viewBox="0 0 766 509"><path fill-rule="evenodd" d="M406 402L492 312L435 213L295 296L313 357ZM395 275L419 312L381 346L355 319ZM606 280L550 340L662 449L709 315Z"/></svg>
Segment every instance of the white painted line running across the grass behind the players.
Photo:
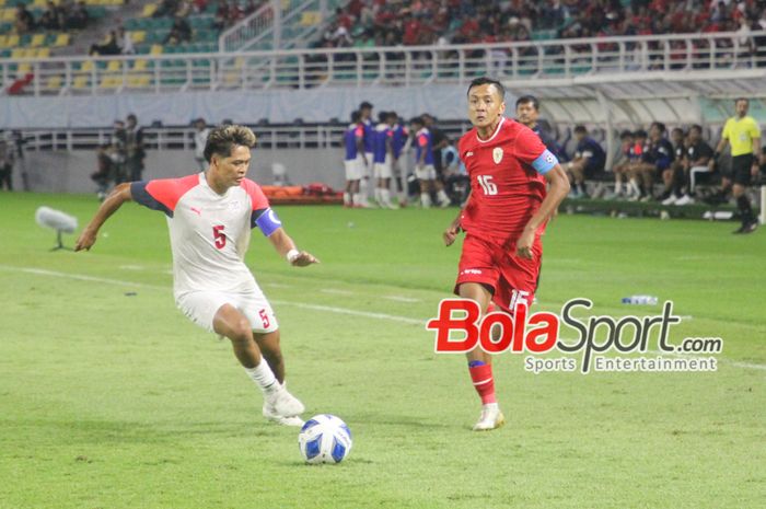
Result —
<svg viewBox="0 0 766 509"><path fill-rule="evenodd" d="M57 273L55 270L46 270L46 269L42 269L42 268L13 267L10 265L0 265L0 269L10 270L10 271L22 271L22 273L27 273L27 274L35 274L38 276L50 276L50 277L60 277L60 278L67 278L67 279L76 279L76 280L80 280L80 281L103 282L106 285L118 285L118 286L130 286L130 287L139 287L139 288L154 288L154 289L159 289L159 290L170 290L170 288L167 286L163 286L163 285L150 285L150 284L143 284L143 282L136 282L136 281L124 281L120 279L102 278L102 277L95 277L95 276L88 276L84 274ZM387 320L390 322L399 322L399 323L406 323L406 324L411 324L411 325L423 326L426 324L425 320L410 319L408 316L398 316L398 315L386 314L386 313L371 313L368 311L358 311L358 310L352 310L352 309L348 309L348 308L337 308L337 306L332 306L332 305L309 304L305 302L291 302L291 301L280 301L280 300L274 300L271 302L274 302L276 304L280 304L280 305L294 305L297 308L313 310L313 311L327 311L330 313L348 314L348 315L352 315L352 316L362 316L362 317L368 317L368 319ZM562 339L564 340L573 340L571 338L569 338L569 339L562 338ZM649 352L650 354L660 354L660 355L671 355L671 356L688 356L689 355L689 354L675 354L675 352L655 351L655 350L650 350ZM736 367L736 368L766 370L766 365L757 365L754 362L740 362L740 361L733 361L733 360L728 360L728 359L718 359L718 361L727 363L729 366Z"/></svg>

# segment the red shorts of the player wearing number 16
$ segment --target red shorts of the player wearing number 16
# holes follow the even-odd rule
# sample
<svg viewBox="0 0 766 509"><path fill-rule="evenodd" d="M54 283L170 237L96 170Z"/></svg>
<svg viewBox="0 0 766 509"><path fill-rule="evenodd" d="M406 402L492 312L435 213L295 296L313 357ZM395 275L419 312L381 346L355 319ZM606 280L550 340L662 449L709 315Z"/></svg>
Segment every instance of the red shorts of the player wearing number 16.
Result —
<svg viewBox="0 0 766 509"><path fill-rule="evenodd" d="M511 312L514 300L525 300L532 305L537 290L543 243L539 235L532 244L533 259L517 256L515 240L506 244L466 235L463 254L457 266L455 294L463 282L480 282L492 288L492 302L506 312Z"/></svg>

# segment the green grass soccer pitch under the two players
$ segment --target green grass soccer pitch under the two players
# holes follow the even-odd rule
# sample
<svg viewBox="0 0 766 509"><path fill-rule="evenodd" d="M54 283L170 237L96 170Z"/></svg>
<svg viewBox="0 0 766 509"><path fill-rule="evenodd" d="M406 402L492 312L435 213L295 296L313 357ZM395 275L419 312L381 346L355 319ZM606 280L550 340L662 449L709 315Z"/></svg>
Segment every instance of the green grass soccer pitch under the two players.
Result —
<svg viewBox="0 0 766 509"><path fill-rule="evenodd" d="M161 213L128 204L92 252L51 253L40 205L81 225L97 206L0 194L2 509L764 507L766 231L558 217L536 309L672 299L688 319L671 339L722 337L719 370L534 375L501 355L508 425L474 433L465 360L423 327L454 281L460 246L441 232L456 210L278 208L322 259L291 268L258 233L247 256L290 390L355 433L346 462L307 466L230 345L175 309Z"/></svg>

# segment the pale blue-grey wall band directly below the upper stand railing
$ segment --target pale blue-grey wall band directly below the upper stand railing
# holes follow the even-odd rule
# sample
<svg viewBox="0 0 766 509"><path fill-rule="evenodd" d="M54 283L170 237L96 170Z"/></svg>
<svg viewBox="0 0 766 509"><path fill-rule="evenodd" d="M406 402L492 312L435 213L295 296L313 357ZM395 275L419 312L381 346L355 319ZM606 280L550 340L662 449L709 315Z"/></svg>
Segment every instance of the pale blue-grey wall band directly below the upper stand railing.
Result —
<svg viewBox="0 0 766 509"><path fill-rule="evenodd" d="M129 113L142 125L188 125L202 117L210 124L224 119L254 124L269 122L323 123L346 120L362 101L376 111L396 111L409 118L423 112L443 118L465 117L465 86L332 88L309 90L236 90L177 93L121 93L38 97L0 97L0 129L77 128L109 126ZM511 100L511 97L507 97Z"/></svg>

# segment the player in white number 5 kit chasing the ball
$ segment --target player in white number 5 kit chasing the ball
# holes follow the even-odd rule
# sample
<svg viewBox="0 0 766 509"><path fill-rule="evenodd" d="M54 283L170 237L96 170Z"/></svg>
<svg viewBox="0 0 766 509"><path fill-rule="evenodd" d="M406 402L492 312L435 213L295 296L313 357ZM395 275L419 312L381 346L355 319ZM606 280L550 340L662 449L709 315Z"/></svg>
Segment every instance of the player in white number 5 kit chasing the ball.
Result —
<svg viewBox="0 0 766 509"><path fill-rule="evenodd" d="M251 229L258 227L293 266L318 261L295 248L258 184L245 178L255 141L246 127L217 127L206 142L205 172L118 185L74 251L90 250L98 229L126 201L163 211L171 233L176 305L197 325L231 340L237 360L264 393L266 418L302 426L303 404L285 387L277 319L244 263Z"/></svg>

